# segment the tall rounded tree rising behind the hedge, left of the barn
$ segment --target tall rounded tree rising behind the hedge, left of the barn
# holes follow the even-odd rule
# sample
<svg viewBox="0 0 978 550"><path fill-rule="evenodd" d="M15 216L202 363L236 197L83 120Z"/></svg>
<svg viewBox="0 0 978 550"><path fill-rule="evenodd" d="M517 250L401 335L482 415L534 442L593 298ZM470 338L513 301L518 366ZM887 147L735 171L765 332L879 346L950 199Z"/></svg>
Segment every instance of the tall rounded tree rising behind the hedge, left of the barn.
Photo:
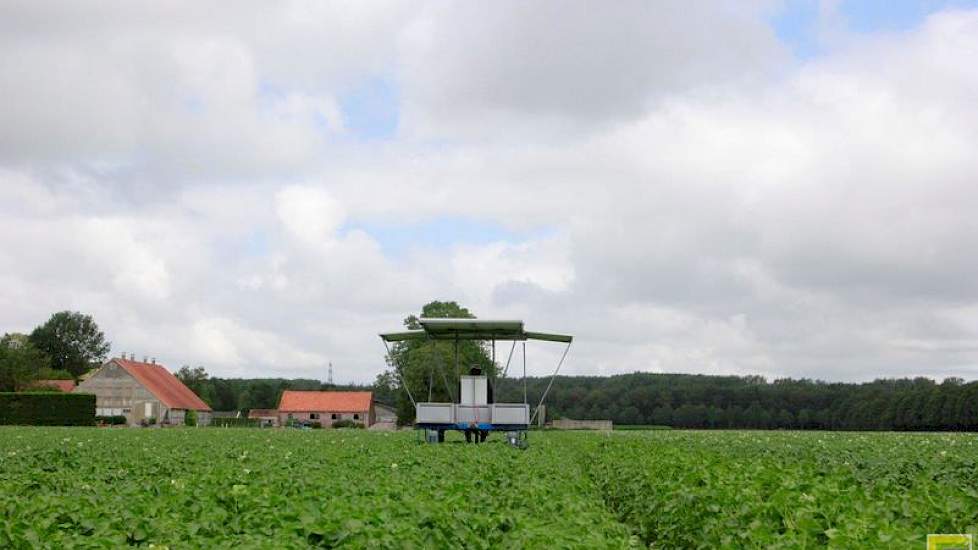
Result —
<svg viewBox="0 0 978 550"><path fill-rule="evenodd" d="M77 311L60 311L28 337L31 344L51 358L51 367L66 370L78 377L93 363L105 360L109 342L91 315Z"/></svg>

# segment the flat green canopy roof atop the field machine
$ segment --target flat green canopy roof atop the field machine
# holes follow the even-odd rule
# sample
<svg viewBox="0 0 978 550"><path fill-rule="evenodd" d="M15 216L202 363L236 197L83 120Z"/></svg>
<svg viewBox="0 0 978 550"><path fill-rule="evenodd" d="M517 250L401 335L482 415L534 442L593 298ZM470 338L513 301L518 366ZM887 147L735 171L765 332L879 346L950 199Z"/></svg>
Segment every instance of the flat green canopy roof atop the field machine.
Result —
<svg viewBox="0 0 978 550"><path fill-rule="evenodd" d="M389 332L380 337L386 342L405 340L545 340L570 343L572 336L523 330L523 321L492 319L418 320L421 330Z"/></svg>

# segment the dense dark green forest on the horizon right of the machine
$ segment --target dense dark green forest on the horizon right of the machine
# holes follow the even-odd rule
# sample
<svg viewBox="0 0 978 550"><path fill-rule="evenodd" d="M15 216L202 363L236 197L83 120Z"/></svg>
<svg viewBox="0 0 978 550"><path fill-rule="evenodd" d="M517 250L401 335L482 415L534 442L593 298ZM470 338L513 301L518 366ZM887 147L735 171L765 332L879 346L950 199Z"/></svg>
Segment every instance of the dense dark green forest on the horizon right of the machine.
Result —
<svg viewBox="0 0 978 550"><path fill-rule="evenodd" d="M536 405L549 379L528 379ZM498 384L499 400L522 401L522 386ZM948 378L862 384L759 376L635 373L558 377L548 416L680 428L978 430L978 382Z"/></svg>

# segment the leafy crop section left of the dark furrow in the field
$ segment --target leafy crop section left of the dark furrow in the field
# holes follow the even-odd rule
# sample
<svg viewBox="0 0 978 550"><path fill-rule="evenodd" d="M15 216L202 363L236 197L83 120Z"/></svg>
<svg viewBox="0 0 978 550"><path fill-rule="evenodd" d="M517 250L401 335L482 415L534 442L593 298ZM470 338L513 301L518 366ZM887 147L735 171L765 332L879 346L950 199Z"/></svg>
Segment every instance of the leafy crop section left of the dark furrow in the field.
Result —
<svg viewBox="0 0 978 550"><path fill-rule="evenodd" d="M0 430L0 548L624 548L564 453L366 430Z"/></svg>

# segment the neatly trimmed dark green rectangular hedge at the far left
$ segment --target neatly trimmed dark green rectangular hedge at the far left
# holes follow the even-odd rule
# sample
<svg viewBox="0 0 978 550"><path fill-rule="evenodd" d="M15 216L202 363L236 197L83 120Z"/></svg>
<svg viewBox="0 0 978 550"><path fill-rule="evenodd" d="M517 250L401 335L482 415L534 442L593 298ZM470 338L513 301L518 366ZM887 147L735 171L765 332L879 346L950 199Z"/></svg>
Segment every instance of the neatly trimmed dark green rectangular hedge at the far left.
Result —
<svg viewBox="0 0 978 550"><path fill-rule="evenodd" d="M87 393L0 393L0 424L94 426L95 396Z"/></svg>

